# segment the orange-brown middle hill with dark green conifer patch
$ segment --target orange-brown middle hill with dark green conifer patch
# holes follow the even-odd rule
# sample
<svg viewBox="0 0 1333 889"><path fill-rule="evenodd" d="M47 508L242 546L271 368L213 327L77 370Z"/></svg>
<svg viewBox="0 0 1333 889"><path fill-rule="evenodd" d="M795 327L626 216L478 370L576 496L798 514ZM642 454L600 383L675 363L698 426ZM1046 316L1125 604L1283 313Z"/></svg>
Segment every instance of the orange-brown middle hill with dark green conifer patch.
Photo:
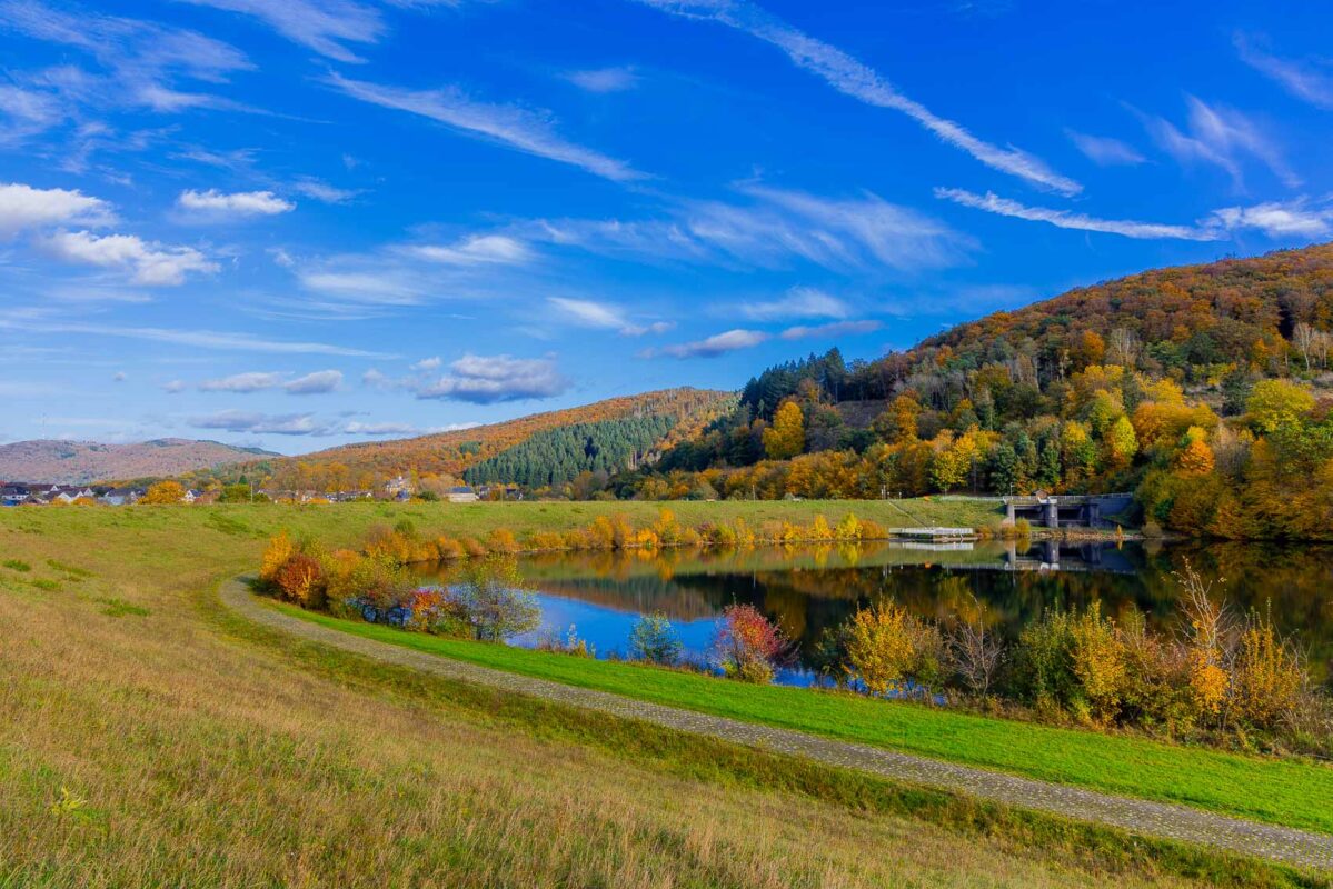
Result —
<svg viewBox="0 0 1333 889"><path fill-rule="evenodd" d="M734 399L726 392L664 389L472 429L344 445L264 461L264 468L276 485L299 489L368 488L399 473L525 484L541 476L541 484L559 484L584 469L613 472L652 460L698 435Z"/></svg>

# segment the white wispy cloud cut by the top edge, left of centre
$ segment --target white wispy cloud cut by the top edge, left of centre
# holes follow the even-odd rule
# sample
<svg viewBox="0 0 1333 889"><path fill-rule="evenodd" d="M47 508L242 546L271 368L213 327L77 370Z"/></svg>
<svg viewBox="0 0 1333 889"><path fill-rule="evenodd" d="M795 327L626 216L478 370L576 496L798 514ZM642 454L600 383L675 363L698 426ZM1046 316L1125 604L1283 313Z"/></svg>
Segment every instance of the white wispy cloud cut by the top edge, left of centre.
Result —
<svg viewBox="0 0 1333 889"><path fill-rule="evenodd" d="M253 16L292 43L336 61L365 61L348 43L373 44L384 36L379 9L349 0L187 0Z"/></svg>

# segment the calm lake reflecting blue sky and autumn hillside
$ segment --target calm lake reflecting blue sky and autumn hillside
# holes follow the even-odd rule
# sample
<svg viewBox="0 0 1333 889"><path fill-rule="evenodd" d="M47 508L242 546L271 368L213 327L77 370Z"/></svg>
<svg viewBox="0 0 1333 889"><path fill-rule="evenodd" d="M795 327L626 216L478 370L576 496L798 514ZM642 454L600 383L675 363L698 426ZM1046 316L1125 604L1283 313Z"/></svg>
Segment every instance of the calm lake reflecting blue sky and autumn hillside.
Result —
<svg viewBox="0 0 1333 889"><path fill-rule="evenodd" d="M1178 625L1180 585L1173 572L1189 561L1233 613L1270 609L1294 634L1320 680L1333 676L1333 548L1262 544L1004 541L860 546L756 546L648 552L543 553L520 560L541 604L543 626L516 637L536 645L571 625L599 657L625 653L629 632L647 612L665 613L692 660L702 661L722 609L748 602L800 642L797 662L778 681L814 680L809 654L825 628L858 605L890 596L917 614L956 620L984 604L986 620L1013 638L1048 608L1084 608L1149 624ZM429 582L448 582L448 565L417 565Z"/></svg>

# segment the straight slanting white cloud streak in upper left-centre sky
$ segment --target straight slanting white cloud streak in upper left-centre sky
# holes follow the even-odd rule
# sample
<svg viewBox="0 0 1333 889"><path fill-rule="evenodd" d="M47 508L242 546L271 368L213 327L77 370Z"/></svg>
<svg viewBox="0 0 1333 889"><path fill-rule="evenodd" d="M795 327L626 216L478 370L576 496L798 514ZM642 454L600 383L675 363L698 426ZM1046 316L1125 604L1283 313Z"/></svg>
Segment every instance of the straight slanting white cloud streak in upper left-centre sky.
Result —
<svg viewBox="0 0 1333 889"><path fill-rule="evenodd" d="M547 113L475 101L456 87L401 89L348 80L337 73L329 75L328 83L353 99L428 117L528 155L580 167L596 176L615 181L643 179L643 173L621 160L567 141L556 133Z"/></svg>

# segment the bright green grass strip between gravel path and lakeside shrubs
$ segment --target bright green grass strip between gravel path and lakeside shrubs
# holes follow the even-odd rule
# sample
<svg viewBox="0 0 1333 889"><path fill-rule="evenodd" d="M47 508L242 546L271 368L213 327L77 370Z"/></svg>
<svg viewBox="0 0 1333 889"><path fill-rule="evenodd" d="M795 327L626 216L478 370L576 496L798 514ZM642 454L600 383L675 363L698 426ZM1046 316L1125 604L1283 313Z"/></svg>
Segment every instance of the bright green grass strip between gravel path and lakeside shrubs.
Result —
<svg viewBox="0 0 1333 889"><path fill-rule="evenodd" d="M536 678L1112 793L1333 833L1333 768L1173 746L639 664L407 633L273 604L304 620Z"/></svg>

